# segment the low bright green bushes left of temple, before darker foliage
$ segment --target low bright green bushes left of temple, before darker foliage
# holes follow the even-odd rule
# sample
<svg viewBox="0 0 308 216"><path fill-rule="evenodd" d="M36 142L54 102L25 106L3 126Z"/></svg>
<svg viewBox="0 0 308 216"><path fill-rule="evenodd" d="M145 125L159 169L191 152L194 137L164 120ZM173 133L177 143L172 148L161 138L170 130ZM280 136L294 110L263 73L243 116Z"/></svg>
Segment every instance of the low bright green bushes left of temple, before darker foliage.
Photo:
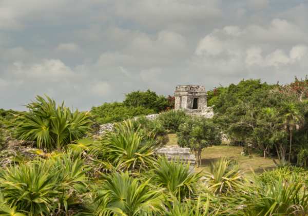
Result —
<svg viewBox="0 0 308 216"><path fill-rule="evenodd" d="M113 102L104 103L101 106L93 106L91 114L95 122L105 124L110 122L120 122L135 116L153 114L153 109L142 106L128 107L124 103Z"/></svg>

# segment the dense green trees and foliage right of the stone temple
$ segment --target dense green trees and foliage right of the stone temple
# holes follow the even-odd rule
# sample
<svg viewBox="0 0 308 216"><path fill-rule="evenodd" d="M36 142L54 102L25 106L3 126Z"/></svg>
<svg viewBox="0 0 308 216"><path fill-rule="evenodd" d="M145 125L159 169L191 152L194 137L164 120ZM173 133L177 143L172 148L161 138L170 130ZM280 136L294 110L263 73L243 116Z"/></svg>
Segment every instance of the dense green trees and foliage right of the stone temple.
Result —
<svg viewBox="0 0 308 216"><path fill-rule="evenodd" d="M211 97L217 122L230 142L304 166L307 155L308 81L268 85L241 81Z"/></svg>

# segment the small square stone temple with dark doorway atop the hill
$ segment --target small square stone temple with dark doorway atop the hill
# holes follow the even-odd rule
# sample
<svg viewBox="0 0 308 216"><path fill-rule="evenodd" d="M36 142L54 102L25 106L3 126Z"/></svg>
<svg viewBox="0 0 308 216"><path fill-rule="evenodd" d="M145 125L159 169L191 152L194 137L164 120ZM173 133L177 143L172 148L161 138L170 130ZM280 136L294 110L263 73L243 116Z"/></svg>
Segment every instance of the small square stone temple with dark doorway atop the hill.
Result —
<svg viewBox="0 0 308 216"><path fill-rule="evenodd" d="M206 104L205 87L201 85L178 85L175 91L175 110L184 110L188 115L214 116L213 107Z"/></svg>

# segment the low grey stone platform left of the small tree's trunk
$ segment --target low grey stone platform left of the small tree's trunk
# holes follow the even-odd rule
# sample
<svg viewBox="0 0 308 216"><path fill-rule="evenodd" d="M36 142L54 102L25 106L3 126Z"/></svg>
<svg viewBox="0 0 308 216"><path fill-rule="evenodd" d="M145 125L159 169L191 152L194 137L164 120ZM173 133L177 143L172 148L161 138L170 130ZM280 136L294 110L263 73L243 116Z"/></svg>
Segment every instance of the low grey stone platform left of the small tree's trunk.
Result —
<svg viewBox="0 0 308 216"><path fill-rule="evenodd" d="M181 148L179 146L167 146L156 151L157 154L165 156L168 160L177 160L185 164L189 164L190 171L194 170L196 164L196 156L190 153L189 148Z"/></svg>

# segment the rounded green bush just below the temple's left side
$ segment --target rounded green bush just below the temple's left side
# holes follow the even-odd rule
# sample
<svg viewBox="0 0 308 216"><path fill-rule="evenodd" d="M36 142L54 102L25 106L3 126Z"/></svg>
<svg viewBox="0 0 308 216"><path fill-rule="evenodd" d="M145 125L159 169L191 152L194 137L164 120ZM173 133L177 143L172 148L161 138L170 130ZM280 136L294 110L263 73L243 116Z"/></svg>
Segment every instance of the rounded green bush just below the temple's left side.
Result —
<svg viewBox="0 0 308 216"><path fill-rule="evenodd" d="M181 123L184 123L188 116L184 111L171 110L165 113L161 113L158 117L164 126L171 133L176 133L179 130Z"/></svg>

